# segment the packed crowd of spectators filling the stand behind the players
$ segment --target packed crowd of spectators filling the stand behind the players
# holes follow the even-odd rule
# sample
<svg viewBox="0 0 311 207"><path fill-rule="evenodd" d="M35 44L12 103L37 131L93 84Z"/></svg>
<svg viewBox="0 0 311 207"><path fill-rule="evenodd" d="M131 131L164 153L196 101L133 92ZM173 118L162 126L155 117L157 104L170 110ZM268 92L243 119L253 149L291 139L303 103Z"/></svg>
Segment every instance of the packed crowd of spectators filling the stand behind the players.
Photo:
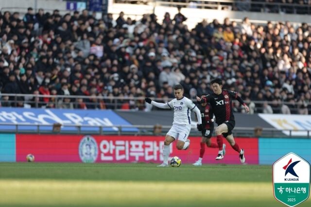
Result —
<svg viewBox="0 0 311 207"><path fill-rule="evenodd" d="M1 93L86 95L89 99L1 97L2 106L144 110L141 101L115 97L173 98L211 93L220 77L238 91L251 112L311 114L311 26L290 22L255 25L203 20L189 30L179 11L138 20L96 19L88 11L61 16L28 8L0 14ZM108 99L97 99L100 97ZM11 101L17 99L17 105ZM40 100L40 102L38 102ZM269 101L254 104L250 101ZM283 104L287 102L287 104ZM35 105L39 103L39 105ZM239 104L234 107L243 112Z"/></svg>

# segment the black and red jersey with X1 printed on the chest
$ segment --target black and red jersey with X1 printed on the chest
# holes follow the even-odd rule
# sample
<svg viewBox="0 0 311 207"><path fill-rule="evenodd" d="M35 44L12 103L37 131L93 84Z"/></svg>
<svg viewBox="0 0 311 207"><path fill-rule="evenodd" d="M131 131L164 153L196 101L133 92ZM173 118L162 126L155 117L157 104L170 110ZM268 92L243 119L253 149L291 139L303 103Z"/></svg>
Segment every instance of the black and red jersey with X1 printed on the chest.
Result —
<svg viewBox="0 0 311 207"><path fill-rule="evenodd" d="M209 94L203 100L212 106L216 123L220 125L225 121L235 121L232 112L232 100L237 99L237 97L237 92L223 90L221 94Z"/></svg>

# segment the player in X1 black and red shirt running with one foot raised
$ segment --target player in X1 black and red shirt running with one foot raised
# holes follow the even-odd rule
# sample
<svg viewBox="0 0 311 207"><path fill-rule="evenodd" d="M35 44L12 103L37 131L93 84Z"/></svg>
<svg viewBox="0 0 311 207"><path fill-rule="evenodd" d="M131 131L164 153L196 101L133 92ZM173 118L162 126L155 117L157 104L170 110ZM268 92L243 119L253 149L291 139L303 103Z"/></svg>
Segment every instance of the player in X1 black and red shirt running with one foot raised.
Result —
<svg viewBox="0 0 311 207"><path fill-rule="evenodd" d="M230 143L231 147L240 155L240 161L245 162L244 150L234 141L232 129L235 126L235 120L232 112L232 99L238 100L244 107L246 112L249 112L248 106L243 102L237 92L231 90L223 90L223 81L216 78L210 82L213 94L207 95L204 98L196 97L197 103L209 103L213 107L213 112L216 117L218 126L215 129L218 143L218 155L216 160L223 159L223 135Z"/></svg>

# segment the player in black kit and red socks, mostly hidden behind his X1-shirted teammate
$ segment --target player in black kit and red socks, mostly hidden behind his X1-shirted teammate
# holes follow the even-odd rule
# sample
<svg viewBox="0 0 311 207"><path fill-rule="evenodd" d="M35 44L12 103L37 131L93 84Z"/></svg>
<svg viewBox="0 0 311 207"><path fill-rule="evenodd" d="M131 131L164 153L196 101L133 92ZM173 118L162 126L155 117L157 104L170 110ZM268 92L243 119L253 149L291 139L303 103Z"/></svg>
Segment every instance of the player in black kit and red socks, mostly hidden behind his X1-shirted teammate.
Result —
<svg viewBox="0 0 311 207"><path fill-rule="evenodd" d="M206 97L207 94L202 94L201 98ZM200 156L199 159L193 163L194 166L202 166L202 159L205 153L205 145L209 148L218 148L218 144L211 141L212 133L214 131L214 117L213 108L209 103L202 103L198 105L202 119L202 140L200 142ZM225 155L225 144L223 145L223 155Z"/></svg>

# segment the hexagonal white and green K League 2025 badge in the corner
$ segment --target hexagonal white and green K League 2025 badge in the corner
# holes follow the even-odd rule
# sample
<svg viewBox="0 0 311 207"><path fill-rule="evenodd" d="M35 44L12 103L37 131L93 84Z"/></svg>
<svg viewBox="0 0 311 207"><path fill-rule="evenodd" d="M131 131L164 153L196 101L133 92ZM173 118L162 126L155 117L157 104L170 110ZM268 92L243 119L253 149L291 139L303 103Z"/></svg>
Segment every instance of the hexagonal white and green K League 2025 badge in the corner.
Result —
<svg viewBox="0 0 311 207"><path fill-rule="evenodd" d="M273 188L276 200L294 207L307 200L310 193L310 164L289 153L273 164Z"/></svg>

